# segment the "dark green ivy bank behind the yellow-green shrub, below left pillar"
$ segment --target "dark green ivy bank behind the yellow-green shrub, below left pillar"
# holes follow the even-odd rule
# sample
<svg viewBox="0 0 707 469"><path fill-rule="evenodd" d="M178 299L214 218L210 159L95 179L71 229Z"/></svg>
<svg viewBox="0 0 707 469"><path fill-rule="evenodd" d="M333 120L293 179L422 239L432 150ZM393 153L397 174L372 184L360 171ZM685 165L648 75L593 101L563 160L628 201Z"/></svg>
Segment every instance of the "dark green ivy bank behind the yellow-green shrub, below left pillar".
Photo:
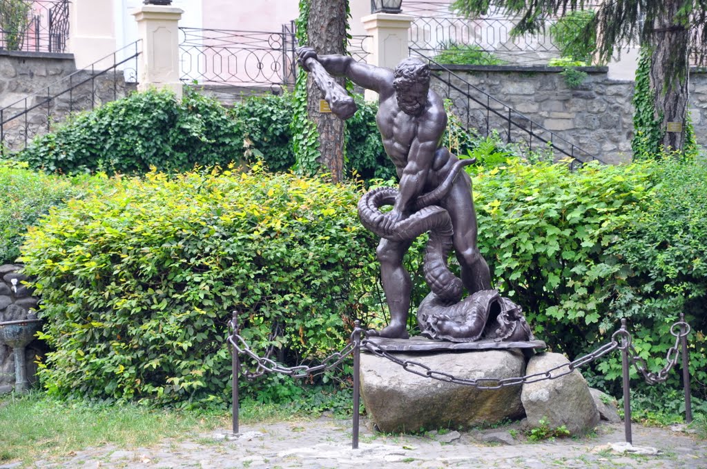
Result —
<svg viewBox="0 0 707 469"><path fill-rule="evenodd" d="M349 119L346 168L363 179L387 179L395 168L383 150L378 105L356 96ZM264 161L272 171L295 165L293 95L245 98L232 109L195 91L178 102L166 90L132 93L93 112L76 114L57 131L37 137L15 156L45 172L145 174L190 171L195 165Z"/></svg>

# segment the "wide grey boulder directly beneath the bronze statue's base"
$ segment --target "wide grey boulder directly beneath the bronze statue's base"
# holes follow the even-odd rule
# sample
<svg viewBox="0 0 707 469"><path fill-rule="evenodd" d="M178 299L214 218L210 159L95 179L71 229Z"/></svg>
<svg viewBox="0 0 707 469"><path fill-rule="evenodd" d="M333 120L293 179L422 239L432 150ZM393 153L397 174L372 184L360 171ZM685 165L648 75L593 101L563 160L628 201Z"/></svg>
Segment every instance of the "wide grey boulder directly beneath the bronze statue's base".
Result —
<svg viewBox="0 0 707 469"><path fill-rule="evenodd" d="M396 353L462 379L523 376L518 350ZM382 432L467 427L522 417L520 386L481 391L407 372L377 355L361 355L361 395L366 411Z"/></svg>

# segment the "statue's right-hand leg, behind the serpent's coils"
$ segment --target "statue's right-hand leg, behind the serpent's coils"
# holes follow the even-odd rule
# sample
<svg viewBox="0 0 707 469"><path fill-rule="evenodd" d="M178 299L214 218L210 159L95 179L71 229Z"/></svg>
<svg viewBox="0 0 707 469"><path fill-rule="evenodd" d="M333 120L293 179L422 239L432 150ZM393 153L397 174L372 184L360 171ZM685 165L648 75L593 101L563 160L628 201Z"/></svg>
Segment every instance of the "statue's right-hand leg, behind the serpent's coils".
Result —
<svg viewBox="0 0 707 469"><path fill-rule="evenodd" d="M442 204L452 218L454 249L462 267L462 283L469 295L491 288L489 265L477 247L477 214L472 200L472 182L462 171Z"/></svg>

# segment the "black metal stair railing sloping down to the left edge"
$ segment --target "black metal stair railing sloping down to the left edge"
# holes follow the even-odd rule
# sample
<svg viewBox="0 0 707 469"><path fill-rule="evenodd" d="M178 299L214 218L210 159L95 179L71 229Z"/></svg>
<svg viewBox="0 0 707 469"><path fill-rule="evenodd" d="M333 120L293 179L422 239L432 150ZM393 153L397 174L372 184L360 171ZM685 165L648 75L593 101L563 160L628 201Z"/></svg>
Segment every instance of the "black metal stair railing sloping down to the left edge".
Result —
<svg viewBox="0 0 707 469"><path fill-rule="evenodd" d="M19 151L74 111L94 109L126 95L137 83L141 41L103 57L0 109L0 149Z"/></svg>

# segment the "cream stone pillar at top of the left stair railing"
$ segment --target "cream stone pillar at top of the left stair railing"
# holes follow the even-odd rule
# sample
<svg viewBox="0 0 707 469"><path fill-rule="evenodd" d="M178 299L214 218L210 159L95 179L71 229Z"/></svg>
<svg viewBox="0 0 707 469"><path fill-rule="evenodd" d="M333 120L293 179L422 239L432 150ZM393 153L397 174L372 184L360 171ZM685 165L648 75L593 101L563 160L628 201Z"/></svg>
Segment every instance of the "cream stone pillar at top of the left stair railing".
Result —
<svg viewBox="0 0 707 469"><path fill-rule="evenodd" d="M174 6L144 5L132 12L142 40L138 57L138 90L168 88L182 99L179 64L179 20Z"/></svg>

